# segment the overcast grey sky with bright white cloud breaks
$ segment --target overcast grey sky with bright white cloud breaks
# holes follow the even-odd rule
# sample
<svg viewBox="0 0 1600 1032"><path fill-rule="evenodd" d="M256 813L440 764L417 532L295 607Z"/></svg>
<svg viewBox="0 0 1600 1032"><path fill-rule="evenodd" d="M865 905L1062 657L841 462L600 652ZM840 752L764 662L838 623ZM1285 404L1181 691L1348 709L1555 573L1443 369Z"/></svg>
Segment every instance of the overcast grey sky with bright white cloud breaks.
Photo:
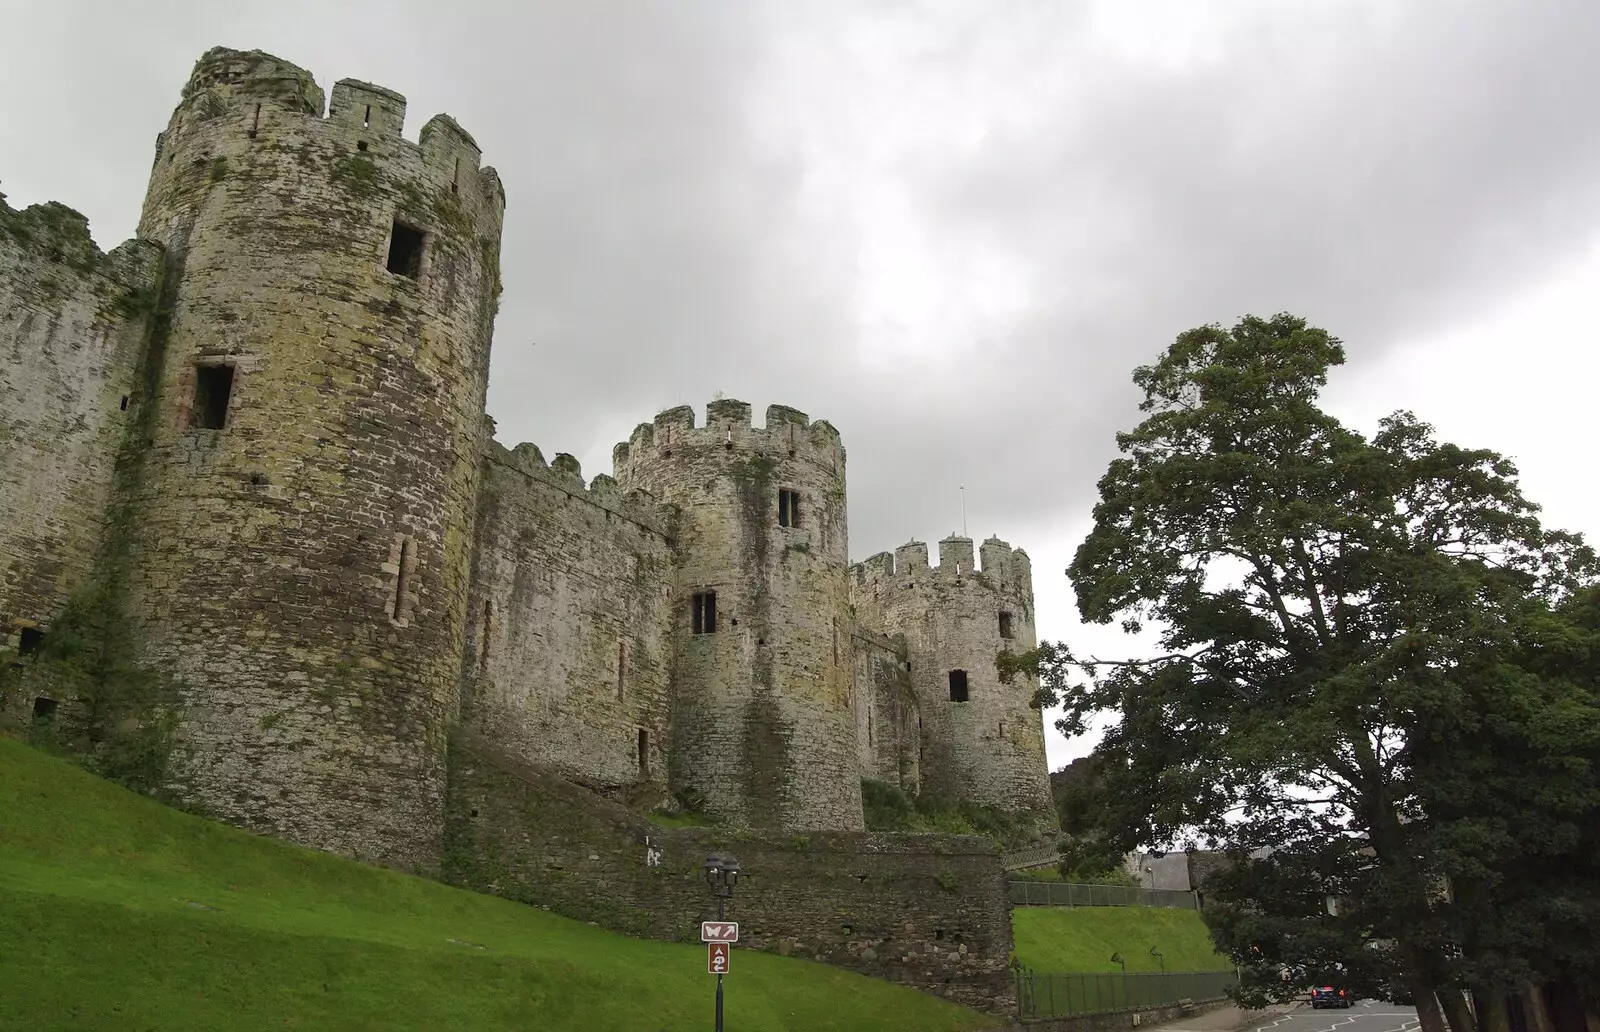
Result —
<svg viewBox="0 0 1600 1032"><path fill-rule="evenodd" d="M960 530L1080 629L1130 371L1293 310L1330 392L1512 453L1594 530L1600 2L0 0L0 190L133 232L213 45L448 110L507 192L499 437L589 475L715 392L832 421L851 554ZM1051 736L1061 763L1086 749Z"/></svg>

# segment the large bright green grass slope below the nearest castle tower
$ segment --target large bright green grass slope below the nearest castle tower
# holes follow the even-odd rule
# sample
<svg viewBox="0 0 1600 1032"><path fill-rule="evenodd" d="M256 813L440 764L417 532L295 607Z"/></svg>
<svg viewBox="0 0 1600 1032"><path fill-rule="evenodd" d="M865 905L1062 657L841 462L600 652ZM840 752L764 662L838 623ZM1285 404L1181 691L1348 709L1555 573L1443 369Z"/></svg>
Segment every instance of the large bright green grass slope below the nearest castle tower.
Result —
<svg viewBox="0 0 1600 1032"><path fill-rule="evenodd" d="M168 810L0 738L0 1027L200 1032L702 1029L702 947L363 867ZM736 952L728 1022L960 1030L995 1019Z"/></svg>

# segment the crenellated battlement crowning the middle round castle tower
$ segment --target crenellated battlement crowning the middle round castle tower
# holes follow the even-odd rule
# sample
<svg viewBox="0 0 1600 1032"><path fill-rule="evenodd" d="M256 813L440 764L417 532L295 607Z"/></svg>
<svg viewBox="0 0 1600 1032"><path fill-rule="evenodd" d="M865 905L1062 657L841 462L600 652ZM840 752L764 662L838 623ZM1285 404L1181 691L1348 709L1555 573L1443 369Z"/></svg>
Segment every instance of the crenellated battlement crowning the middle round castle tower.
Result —
<svg viewBox="0 0 1600 1032"><path fill-rule="evenodd" d="M755 426L749 402L720 398L706 406L706 422L696 426L694 408L678 405L642 422L626 442L611 450L611 464L621 478L630 464L706 454L707 451L771 454L808 459L843 472L845 448L834 424L813 422L787 405L768 405L765 426Z"/></svg>

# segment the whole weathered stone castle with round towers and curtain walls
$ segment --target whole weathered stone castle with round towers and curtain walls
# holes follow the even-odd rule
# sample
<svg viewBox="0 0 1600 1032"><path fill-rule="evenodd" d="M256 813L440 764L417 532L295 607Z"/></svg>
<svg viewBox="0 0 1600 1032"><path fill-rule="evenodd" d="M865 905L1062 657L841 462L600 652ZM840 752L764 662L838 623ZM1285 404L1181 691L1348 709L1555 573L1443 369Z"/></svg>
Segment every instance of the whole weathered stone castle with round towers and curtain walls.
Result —
<svg viewBox="0 0 1600 1032"><path fill-rule="evenodd" d="M5 720L424 872L461 733L730 829L861 830L862 779L1051 827L1034 685L995 672L1035 645L1027 555L851 565L840 435L779 405L664 411L587 483L498 445L506 194L403 118L218 48L134 240L0 203Z"/></svg>

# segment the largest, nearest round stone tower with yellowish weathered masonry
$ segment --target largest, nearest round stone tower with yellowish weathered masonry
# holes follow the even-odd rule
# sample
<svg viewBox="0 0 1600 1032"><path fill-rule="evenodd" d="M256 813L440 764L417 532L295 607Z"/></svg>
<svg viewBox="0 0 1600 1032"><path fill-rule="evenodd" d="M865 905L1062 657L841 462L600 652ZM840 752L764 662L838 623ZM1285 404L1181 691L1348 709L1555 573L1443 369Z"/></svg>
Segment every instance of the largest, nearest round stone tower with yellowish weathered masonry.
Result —
<svg viewBox="0 0 1600 1032"><path fill-rule="evenodd" d="M131 610L179 707L168 787L216 816L438 862L504 190L405 98L216 48L139 235L168 248L134 402Z"/></svg>

